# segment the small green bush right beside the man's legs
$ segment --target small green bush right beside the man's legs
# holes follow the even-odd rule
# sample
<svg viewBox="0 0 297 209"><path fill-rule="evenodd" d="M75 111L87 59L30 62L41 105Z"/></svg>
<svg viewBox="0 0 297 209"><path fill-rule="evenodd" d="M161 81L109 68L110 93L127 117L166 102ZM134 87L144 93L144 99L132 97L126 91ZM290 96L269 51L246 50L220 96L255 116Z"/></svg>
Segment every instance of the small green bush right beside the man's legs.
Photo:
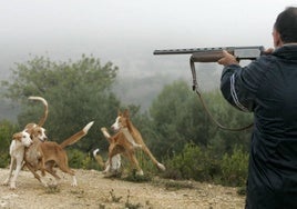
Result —
<svg viewBox="0 0 297 209"><path fill-rule="evenodd" d="M222 183L228 186L245 186L247 179L248 153L243 148L235 147L233 153L224 155L222 160Z"/></svg>

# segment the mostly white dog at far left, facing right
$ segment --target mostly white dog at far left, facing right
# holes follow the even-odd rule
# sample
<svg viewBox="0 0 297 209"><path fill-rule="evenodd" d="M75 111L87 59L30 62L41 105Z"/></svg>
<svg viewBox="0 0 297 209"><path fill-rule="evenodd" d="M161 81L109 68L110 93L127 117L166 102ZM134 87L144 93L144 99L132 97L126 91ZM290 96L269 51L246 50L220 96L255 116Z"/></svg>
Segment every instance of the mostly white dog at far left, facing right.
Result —
<svg viewBox="0 0 297 209"><path fill-rule="evenodd" d="M10 189L17 188L16 182L19 172L22 168L24 149L25 147L31 146L32 142L33 141L31 140L30 135L27 132L27 130L14 133L12 136L12 141L9 148L9 155L10 155L9 176L3 182L3 185L10 185ZM14 173L12 177L13 169Z"/></svg>

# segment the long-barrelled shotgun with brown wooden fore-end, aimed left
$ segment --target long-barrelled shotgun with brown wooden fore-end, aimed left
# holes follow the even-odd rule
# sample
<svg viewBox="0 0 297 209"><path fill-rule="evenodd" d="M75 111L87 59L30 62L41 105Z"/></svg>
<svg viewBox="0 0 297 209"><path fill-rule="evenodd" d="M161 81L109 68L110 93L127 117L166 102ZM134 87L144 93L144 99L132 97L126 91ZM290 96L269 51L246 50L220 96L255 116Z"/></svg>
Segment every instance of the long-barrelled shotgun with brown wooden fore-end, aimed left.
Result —
<svg viewBox="0 0 297 209"><path fill-rule="evenodd" d="M155 50L154 54L187 54L192 53L191 59L194 62L217 62L223 57L223 50L228 51L236 59L254 60L263 54L263 46L253 47L218 47L218 48L193 48L193 49L166 49Z"/></svg>

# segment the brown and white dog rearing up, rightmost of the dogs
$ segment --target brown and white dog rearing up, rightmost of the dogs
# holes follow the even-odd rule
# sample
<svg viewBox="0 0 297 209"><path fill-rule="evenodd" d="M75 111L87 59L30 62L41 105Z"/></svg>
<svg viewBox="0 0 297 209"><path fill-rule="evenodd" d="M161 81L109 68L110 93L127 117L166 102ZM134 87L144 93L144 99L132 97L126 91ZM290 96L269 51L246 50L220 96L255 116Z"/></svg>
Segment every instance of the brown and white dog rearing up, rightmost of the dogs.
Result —
<svg viewBox="0 0 297 209"><path fill-rule="evenodd" d="M111 159L113 159L113 157L119 153L123 153L136 168L136 175L143 176L143 170L141 169L135 157L135 149L141 149L144 151L160 170L164 171L166 169L164 165L155 159L155 157L144 143L140 131L130 120L129 110L125 110L123 113L119 111L115 122L111 126L111 128L116 132L114 136L110 136L106 128L101 128L103 136L110 142L107 160L110 167L106 167L105 172L109 172L113 167L113 161Z"/></svg>

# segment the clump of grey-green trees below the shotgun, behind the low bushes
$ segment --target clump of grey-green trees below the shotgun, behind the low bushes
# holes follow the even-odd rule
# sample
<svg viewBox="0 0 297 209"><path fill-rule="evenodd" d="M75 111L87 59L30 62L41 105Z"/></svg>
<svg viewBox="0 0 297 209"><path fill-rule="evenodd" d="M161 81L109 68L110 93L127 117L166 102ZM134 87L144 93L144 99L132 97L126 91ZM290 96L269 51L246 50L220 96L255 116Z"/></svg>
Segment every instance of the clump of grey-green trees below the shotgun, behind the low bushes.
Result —
<svg viewBox="0 0 297 209"><path fill-rule="evenodd" d="M252 115L231 107L218 90L203 92L203 98L214 119L225 127L238 128L250 123ZM218 156L231 153L235 146L247 150L250 130L219 129L209 119L197 94L183 80L165 86L153 101L150 113L155 131L152 149L156 155L180 152L188 142L212 149Z"/></svg>

